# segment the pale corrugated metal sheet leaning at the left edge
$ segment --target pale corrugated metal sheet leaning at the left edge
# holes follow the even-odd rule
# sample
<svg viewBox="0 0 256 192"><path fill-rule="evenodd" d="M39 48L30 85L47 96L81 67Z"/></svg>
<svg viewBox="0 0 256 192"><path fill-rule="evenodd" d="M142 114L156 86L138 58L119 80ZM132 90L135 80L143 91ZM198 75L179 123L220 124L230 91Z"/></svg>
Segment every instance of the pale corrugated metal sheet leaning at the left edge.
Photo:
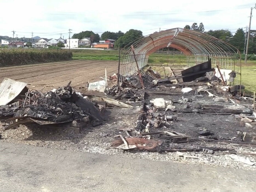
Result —
<svg viewBox="0 0 256 192"><path fill-rule="evenodd" d="M0 85L0 105L7 105L26 87L27 83L4 78Z"/></svg>

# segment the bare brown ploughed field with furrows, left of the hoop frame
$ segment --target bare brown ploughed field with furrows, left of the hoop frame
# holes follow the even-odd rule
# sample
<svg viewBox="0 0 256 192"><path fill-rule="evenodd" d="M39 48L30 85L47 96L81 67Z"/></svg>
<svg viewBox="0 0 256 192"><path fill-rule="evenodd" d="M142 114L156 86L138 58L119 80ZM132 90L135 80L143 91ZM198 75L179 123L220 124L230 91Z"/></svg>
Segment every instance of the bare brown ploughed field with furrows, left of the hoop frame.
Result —
<svg viewBox="0 0 256 192"><path fill-rule="evenodd" d="M104 67L107 67L107 75L117 73L118 62L113 61L64 61L54 63L20 65L0 68L0 82L5 77L17 81L27 82L28 87L50 90L52 88L67 85L72 81L75 88L85 87L87 81L101 80L104 76Z"/></svg>

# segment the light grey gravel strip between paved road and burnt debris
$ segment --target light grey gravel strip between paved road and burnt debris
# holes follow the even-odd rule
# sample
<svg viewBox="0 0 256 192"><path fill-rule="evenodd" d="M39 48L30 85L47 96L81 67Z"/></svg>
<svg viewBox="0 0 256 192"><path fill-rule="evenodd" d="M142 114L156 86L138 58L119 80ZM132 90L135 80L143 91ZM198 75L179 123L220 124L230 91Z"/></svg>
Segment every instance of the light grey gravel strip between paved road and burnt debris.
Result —
<svg viewBox="0 0 256 192"><path fill-rule="evenodd" d="M13 142L19 144L34 145L40 147L58 148L71 151L85 151L89 153L100 153L107 155L118 155L130 158L150 159L153 161L167 161L167 162L183 162L184 164L205 164L211 166L231 167L236 169L255 169L255 165L247 165L242 162L237 162L231 158L231 155L212 155L203 152L184 152L191 156L196 156L198 159L179 157L177 153L157 153L157 152L125 152L110 148L113 136L117 135L118 127L125 125L127 127L135 127L135 122L139 114L139 109L121 109L114 108L107 110L110 114L106 117L107 121L98 127L88 127L84 129L84 133L78 133L78 128L68 128L64 125L59 127L38 127L27 128L20 126L16 129L3 131L1 141ZM234 117L233 117L234 118ZM238 121L235 120L234 121ZM182 129L181 129L182 130ZM180 132L181 132L180 130ZM214 145L212 145L214 143ZM217 142L205 142L205 146L209 147L225 147L231 148L241 153L248 153L255 151L250 147L231 146L229 144ZM243 155L241 155L243 156ZM256 162L256 156L248 156L253 162Z"/></svg>

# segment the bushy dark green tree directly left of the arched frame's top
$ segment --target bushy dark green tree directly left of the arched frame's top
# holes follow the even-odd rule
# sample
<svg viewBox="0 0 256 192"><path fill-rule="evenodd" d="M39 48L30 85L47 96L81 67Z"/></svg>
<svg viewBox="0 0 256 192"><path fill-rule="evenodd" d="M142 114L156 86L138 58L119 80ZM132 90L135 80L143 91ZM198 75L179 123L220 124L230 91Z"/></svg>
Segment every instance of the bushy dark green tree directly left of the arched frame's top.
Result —
<svg viewBox="0 0 256 192"><path fill-rule="evenodd" d="M142 31L130 29L124 36L121 36L115 42L115 48L123 48L125 46L130 46L134 40L143 37Z"/></svg>

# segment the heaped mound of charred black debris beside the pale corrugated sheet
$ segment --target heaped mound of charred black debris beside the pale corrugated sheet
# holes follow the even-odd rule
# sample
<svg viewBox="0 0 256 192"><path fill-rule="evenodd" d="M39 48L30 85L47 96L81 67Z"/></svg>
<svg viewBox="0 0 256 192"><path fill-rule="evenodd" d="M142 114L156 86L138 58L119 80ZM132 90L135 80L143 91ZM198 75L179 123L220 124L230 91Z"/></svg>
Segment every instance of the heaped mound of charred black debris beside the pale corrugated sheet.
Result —
<svg viewBox="0 0 256 192"><path fill-rule="evenodd" d="M83 120L94 126L102 124L99 110L92 102L75 92L70 83L46 93L29 90L23 99L1 106L0 117L5 122L11 121L6 129L31 122L43 125Z"/></svg>

